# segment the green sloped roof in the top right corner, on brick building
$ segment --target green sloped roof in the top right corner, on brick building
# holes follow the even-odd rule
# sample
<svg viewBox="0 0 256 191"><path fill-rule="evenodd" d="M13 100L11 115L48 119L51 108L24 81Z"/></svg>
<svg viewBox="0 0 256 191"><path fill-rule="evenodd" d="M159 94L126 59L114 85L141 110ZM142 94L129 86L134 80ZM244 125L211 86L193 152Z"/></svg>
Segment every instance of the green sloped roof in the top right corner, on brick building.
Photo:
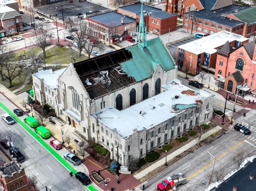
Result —
<svg viewBox="0 0 256 191"><path fill-rule="evenodd" d="M246 22L248 26L256 23L256 7L250 7L233 14L241 21Z"/></svg>

